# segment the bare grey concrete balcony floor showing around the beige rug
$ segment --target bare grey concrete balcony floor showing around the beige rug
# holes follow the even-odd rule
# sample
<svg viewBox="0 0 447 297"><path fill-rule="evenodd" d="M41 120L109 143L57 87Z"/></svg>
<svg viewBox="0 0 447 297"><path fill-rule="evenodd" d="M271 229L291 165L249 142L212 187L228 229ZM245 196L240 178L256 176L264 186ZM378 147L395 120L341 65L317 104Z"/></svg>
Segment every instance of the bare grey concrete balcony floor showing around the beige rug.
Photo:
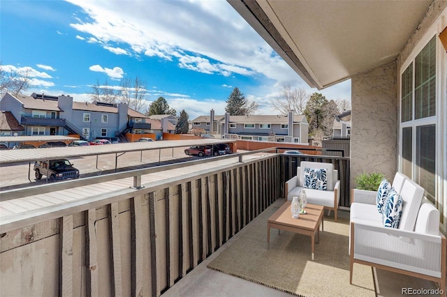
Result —
<svg viewBox="0 0 447 297"><path fill-rule="evenodd" d="M284 199L278 200L284 201ZM325 215L327 214L327 211L325 211ZM339 217L349 218L348 211L339 211L338 215ZM193 269L193 271L183 277L182 280L179 280L177 284L162 294L162 296L295 296L277 289L265 287L261 284L242 280L242 278L234 277L232 275L227 275L226 273L221 273L219 271L214 271L213 269L207 268L207 264L217 257L220 252L231 245L233 241L237 240L238 235L239 234L236 234L233 238L230 238L230 240L219 248L219 250L200 263ZM377 296L394 297L404 295L402 294L402 288L436 289L437 284L426 280L420 280L415 277L409 277L406 275L390 273L388 271L377 269L376 287Z"/></svg>

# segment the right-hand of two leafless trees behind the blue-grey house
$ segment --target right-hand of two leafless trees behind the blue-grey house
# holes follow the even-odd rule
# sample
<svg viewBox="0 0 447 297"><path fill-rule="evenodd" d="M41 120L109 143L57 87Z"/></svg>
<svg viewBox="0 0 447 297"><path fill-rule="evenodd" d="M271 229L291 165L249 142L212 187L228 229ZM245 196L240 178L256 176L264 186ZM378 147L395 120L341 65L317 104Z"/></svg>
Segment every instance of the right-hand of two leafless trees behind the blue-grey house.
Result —
<svg viewBox="0 0 447 297"><path fill-rule="evenodd" d="M121 102L126 103L131 109L143 112L147 109L146 101L146 82L135 77L124 77L121 81Z"/></svg>

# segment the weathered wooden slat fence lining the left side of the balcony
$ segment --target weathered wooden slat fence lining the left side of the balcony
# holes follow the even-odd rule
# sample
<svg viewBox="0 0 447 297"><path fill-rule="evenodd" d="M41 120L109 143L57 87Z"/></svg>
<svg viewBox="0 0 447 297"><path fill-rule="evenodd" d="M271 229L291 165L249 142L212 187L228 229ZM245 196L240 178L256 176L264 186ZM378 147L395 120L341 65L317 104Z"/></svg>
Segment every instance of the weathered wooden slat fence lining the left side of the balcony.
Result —
<svg viewBox="0 0 447 297"><path fill-rule="evenodd" d="M281 197L284 168L264 156L46 209L0 234L0 295L160 296Z"/></svg>

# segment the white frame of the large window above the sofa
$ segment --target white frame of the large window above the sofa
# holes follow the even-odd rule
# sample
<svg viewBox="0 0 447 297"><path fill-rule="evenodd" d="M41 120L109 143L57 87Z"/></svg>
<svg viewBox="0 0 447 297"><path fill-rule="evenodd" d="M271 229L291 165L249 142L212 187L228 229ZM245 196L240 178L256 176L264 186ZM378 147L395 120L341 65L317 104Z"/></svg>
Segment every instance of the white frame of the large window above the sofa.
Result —
<svg viewBox="0 0 447 297"><path fill-rule="evenodd" d="M444 18L446 17L447 13L444 12L441 15L444 15ZM446 121L446 110L447 110L447 100L446 100L446 92L447 87L445 84L445 77L447 73L447 58L446 58L446 50L444 49L443 45L441 44L441 41L439 40L439 32L441 32L445 26L446 21L441 18L441 16L438 18L436 22L433 23L433 25L430 27L430 29L427 30L427 32L424 34L422 38L420 38L418 44L413 48L407 59L402 63L402 66L400 68L399 72L399 82L400 82L400 88L398 90L399 92L399 114L398 114L398 124L399 124L399 158L398 158L398 166L399 171L402 172L403 170L403 160L402 160L402 132L404 128L411 128L411 172L412 172L412 179L416 180L416 158L417 156L417 130L418 127L423 127L426 125L435 125L436 127L436 149L435 149L435 172L434 172L434 201L435 206L439 209L441 212L441 220L443 220L444 217L444 230L447 229L447 222L445 220L446 218L446 212L447 212L447 206L446 206L446 199L444 197L447 197L447 176L444 176L443 171L447 172L447 162L444 164L442 162L439 162L439 160L443 160L442 155L446 154L446 147L447 147L447 137L444 137L446 131L445 127L445 121ZM415 82L414 82L414 76L416 73L414 73L415 68L415 60L416 56L420 54L420 52L423 50L423 48L432 40L432 38L435 38L436 40L436 89L435 89L435 108L436 108L436 114L434 116L428 116L422 119L416 119L415 117ZM413 94L412 94L412 119L411 121L406 121L402 123L402 74L404 71L411 65L413 66Z"/></svg>

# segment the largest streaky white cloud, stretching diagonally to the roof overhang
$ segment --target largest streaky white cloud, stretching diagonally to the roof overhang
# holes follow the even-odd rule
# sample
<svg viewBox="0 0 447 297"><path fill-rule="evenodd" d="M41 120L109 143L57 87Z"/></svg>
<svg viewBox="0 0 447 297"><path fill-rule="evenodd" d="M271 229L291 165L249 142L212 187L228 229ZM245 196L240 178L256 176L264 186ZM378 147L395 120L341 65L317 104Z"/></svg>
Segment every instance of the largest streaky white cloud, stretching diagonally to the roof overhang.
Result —
<svg viewBox="0 0 447 297"><path fill-rule="evenodd" d="M226 1L68 1L89 16L71 26L90 43L126 44L200 73L263 74L279 86L300 79Z"/></svg>

